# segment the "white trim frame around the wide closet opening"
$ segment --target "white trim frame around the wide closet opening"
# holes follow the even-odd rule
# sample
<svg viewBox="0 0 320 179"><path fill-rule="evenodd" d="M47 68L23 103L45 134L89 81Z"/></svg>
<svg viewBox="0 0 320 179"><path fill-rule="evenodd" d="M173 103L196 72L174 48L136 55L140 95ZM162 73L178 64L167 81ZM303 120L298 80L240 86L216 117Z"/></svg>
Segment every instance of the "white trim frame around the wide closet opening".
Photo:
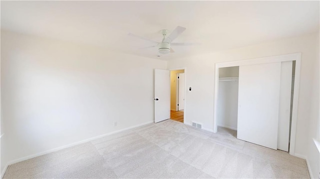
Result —
<svg viewBox="0 0 320 179"><path fill-rule="evenodd" d="M229 61L215 63L214 69L214 99L213 99L213 132L217 132L217 96L218 96L218 85L219 85L219 68L242 66L242 65L253 65L261 63L274 63L283 61L294 61L295 60L295 74L294 74L294 87L293 87L293 102L292 102L292 120L291 120L291 133L290 133L290 145L289 154L295 155L295 134L296 134L296 123L297 123L297 108L298 108L298 97L299 97L299 85L300 85L300 69L301 69L301 53L291 53L284 55L274 55L268 57L252 58L245 60Z"/></svg>

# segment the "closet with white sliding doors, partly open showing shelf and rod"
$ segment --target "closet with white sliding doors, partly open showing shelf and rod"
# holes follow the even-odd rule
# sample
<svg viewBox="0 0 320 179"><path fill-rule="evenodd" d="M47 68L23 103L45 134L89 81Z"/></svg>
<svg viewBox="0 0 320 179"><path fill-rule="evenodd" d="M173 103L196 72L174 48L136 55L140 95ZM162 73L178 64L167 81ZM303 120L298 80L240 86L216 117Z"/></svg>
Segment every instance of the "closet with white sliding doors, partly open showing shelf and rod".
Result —
<svg viewBox="0 0 320 179"><path fill-rule="evenodd" d="M274 150L289 151L294 62L219 68L217 126L237 138Z"/></svg>

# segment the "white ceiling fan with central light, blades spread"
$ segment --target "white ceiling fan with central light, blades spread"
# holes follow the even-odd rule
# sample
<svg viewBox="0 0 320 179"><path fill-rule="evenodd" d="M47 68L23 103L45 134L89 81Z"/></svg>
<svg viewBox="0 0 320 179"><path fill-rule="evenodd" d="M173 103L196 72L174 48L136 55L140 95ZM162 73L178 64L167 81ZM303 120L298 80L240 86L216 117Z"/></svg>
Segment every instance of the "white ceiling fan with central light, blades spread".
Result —
<svg viewBox="0 0 320 179"><path fill-rule="evenodd" d="M161 34L163 35L162 41L161 42L156 42L138 35L134 35L132 33L129 33L129 36L133 36L136 38L140 38L143 40L147 40L149 42L152 42L156 45L153 46L148 46L144 48L152 48L152 47L157 47L158 52L161 54L168 54L168 53L173 53L174 51L172 50L171 46L187 46L187 45L196 45L198 43L171 43L176 37L178 37L183 31L185 30L184 27L177 26L171 33L170 35L167 36L168 30L167 29L162 29L160 30ZM159 56L159 55L158 55Z"/></svg>

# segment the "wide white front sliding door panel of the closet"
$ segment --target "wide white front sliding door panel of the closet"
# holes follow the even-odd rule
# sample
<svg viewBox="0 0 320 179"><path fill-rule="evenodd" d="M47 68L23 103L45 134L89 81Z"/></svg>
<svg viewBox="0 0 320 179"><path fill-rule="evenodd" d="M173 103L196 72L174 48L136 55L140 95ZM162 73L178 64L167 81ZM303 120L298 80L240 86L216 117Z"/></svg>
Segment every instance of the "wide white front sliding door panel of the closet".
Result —
<svg viewBox="0 0 320 179"><path fill-rule="evenodd" d="M277 149L281 63L239 66L237 138Z"/></svg>

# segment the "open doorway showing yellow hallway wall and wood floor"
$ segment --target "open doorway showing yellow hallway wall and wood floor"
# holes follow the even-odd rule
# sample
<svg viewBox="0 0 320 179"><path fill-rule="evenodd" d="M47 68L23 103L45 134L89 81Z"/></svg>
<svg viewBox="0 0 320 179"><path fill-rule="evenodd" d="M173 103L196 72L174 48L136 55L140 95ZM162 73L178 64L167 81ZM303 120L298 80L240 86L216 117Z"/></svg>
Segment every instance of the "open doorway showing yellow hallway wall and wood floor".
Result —
<svg viewBox="0 0 320 179"><path fill-rule="evenodd" d="M170 70L170 119L183 123L184 116L184 69Z"/></svg>

